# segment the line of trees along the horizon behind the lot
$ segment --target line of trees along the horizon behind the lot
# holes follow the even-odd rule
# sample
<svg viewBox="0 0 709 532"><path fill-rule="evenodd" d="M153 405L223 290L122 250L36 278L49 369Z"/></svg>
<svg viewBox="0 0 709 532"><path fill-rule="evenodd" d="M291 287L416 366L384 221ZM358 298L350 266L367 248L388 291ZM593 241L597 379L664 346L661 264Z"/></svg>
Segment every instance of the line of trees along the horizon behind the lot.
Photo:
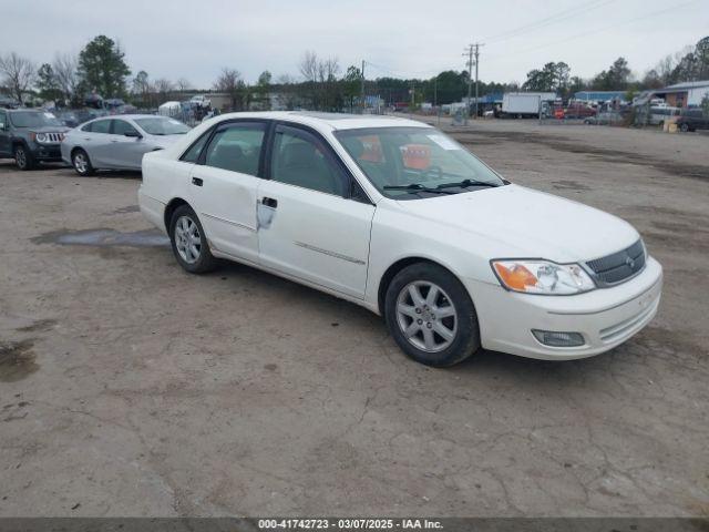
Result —
<svg viewBox="0 0 709 532"><path fill-rule="evenodd" d="M305 52L297 68L299 78L280 75L274 79L269 71L264 71L256 83L249 84L237 69L225 66L212 89L226 93L235 111L269 109L274 93L279 95L280 106L327 111L361 105L362 90L366 95L382 98L387 104L448 104L461 101L467 94L469 73L465 70L448 70L430 79L380 76L363 80L358 66L342 70L337 57L322 58L314 51ZM0 54L0 90L20 103L31 93L44 101L81 106L88 94L95 93L121 98L141 108L156 108L194 90L185 78L152 80L144 70L132 74L121 44L105 35L92 39L78 55L56 53L51 62L39 66L17 52ZM479 93L549 91L568 98L582 90L637 92L708 78L709 37L706 37L693 47L667 55L639 79L634 78L624 58L618 58L590 79L572 75L567 63L552 61L527 72L522 84L481 82Z"/></svg>

